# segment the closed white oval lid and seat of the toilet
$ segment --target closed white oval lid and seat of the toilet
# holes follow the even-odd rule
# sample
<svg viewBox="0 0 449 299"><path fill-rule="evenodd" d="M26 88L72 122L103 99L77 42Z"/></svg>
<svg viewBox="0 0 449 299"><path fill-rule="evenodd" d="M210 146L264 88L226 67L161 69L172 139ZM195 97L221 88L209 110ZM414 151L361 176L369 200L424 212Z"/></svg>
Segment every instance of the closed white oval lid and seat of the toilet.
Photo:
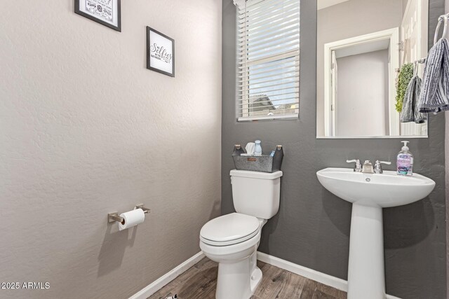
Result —
<svg viewBox="0 0 449 299"><path fill-rule="evenodd" d="M232 213L217 217L201 228L201 241L215 245L226 246L236 244L257 235L259 221L254 216Z"/></svg>

